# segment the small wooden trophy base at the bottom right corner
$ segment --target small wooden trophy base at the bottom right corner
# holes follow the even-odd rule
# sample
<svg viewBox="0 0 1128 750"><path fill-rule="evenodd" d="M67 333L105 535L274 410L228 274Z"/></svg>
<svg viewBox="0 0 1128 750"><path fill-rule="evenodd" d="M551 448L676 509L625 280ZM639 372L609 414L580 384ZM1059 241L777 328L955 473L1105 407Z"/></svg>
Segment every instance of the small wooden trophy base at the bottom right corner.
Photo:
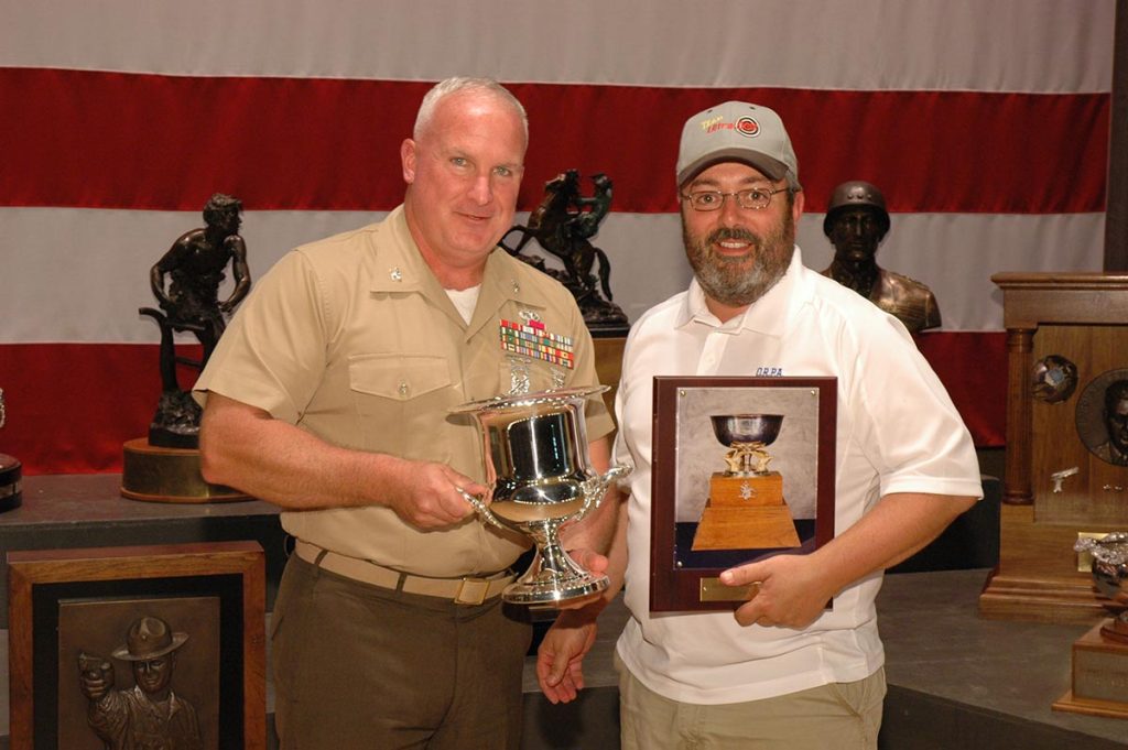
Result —
<svg viewBox="0 0 1128 750"><path fill-rule="evenodd" d="M1073 644L1073 688L1055 711L1128 718L1128 642L1102 634L1095 625Z"/></svg>

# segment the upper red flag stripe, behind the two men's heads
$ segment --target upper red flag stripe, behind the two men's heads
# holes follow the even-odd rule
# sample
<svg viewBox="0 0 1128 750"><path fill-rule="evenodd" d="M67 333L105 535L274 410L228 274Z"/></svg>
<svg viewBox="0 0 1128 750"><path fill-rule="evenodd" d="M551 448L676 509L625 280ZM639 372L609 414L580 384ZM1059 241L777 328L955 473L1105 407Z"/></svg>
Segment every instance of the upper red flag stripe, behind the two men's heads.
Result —
<svg viewBox="0 0 1128 750"><path fill-rule="evenodd" d="M247 209L387 210L425 82L201 78L0 68L0 205L199 211L213 192ZM681 123L725 99L777 109L808 210L844 179L892 211L1104 209L1108 94L827 91L514 83L532 143L521 208L566 168L606 173L615 210L677 210Z"/></svg>

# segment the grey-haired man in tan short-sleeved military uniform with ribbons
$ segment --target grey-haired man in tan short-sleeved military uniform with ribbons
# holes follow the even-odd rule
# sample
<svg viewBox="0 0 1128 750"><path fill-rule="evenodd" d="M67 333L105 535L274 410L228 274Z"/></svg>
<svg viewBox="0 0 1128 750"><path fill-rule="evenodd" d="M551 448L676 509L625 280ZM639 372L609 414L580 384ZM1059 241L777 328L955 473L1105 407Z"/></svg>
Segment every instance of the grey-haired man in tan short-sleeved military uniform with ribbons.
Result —
<svg viewBox="0 0 1128 750"><path fill-rule="evenodd" d="M482 440L450 409L597 382L571 294L496 248L526 127L492 81L432 89L400 148L404 204L281 259L196 386L204 476L281 505L297 538L272 634L283 749L518 747L530 629L499 595L528 542L464 500L487 489ZM587 420L602 470L598 396ZM606 544L614 514L570 546Z"/></svg>

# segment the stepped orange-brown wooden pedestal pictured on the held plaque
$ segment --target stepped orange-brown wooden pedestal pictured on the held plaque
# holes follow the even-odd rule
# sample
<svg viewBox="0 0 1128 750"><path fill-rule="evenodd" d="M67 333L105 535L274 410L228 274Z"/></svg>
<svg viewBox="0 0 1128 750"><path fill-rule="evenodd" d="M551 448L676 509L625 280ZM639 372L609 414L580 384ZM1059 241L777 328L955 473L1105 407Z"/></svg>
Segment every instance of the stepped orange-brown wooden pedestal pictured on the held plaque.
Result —
<svg viewBox="0 0 1128 750"><path fill-rule="evenodd" d="M694 552L799 545L778 471L749 477L713 474L710 498L694 535Z"/></svg>

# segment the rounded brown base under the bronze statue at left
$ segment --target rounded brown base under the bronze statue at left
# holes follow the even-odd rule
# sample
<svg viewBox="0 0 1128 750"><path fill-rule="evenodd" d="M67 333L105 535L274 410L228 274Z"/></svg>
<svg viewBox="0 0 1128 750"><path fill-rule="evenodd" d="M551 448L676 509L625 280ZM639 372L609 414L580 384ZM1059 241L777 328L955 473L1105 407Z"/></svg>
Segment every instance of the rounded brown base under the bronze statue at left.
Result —
<svg viewBox="0 0 1128 750"><path fill-rule="evenodd" d="M231 487L209 484L200 474L200 451L152 445L144 438L126 441L122 496L151 503L229 503L250 500Z"/></svg>

